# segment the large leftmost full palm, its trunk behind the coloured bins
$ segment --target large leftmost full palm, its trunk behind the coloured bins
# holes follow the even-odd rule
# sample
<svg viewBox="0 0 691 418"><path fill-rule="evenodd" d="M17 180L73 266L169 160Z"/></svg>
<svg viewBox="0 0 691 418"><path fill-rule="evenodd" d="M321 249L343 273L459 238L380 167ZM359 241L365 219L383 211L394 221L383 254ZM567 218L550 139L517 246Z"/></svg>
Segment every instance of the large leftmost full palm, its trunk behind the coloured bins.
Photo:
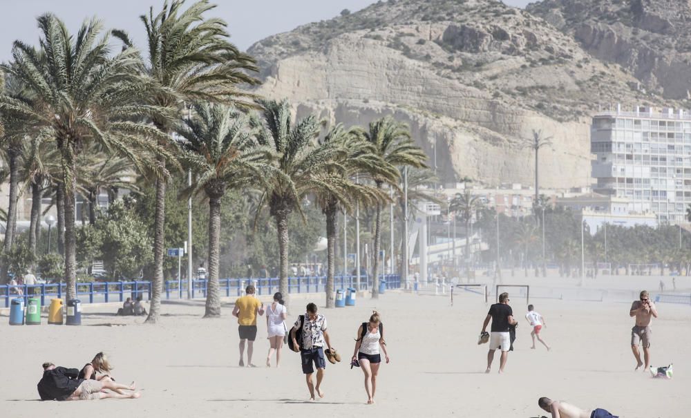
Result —
<svg viewBox="0 0 691 418"><path fill-rule="evenodd" d="M142 104L149 88L138 75L134 48L111 56L110 37L97 19L84 21L76 36L51 14L38 18L40 51L21 41L12 47L14 61L3 70L35 94L35 106L3 95L0 111L37 124L38 134L55 140L60 152L65 205L65 281L67 298L77 296L75 260L75 191L77 153L91 143L143 164L146 152L162 150L150 138L159 131L136 122L164 116Z"/></svg>

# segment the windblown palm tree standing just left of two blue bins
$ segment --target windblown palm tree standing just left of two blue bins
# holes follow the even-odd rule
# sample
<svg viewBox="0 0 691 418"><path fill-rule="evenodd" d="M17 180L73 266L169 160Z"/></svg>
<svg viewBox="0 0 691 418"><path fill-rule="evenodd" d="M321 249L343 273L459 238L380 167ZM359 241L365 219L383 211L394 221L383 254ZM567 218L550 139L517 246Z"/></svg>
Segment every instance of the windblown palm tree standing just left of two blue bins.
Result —
<svg viewBox="0 0 691 418"><path fill-rule="evenodd" d="M327 274L326 307L334 307L334 272L336 269L336 245L338 242L337 216L339 211L352 212L354 202L371 205L388 200L386 193L361 180L367 180L376 173L389 181L395 181L398 171L382 161L374 146L364 141L359 129L343 129L341 124L334 126L320 142L322 147L338 147L343 152L334 156L339 158L339 166L327 171L328 183L316 191L316 202L326 217ZM357 175L357 181L353 178Z"/></svg>

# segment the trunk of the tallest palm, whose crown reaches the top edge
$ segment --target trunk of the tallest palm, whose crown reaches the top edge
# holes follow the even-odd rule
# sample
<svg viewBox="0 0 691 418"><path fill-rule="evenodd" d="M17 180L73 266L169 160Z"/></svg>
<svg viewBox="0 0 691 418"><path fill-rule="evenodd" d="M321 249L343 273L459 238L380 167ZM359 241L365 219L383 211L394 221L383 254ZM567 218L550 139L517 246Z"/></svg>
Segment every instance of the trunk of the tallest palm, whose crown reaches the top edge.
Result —
<svg viewBox="0 0 691 418"><path fill-rule="evenodd" d="M162 158L159 164L165 167ZM153 222L153 280L151 281L151 304L146 323L157 323L161 315L161 292L163 289L163 239L166 213L166 180L156 180L156 210Z"/></svg>

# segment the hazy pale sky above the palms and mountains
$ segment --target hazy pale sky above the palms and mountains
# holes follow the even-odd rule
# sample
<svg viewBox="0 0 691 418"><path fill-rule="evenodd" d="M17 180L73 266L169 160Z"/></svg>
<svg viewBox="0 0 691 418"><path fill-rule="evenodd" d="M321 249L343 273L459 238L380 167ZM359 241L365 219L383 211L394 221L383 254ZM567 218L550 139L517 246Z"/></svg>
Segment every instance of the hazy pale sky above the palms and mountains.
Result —
<svg viewBox="0 0 691 418"><path fill-rule="evenodd" d="M192 1L192 0L188 0ZM36 17L53 12L66 21L70 32L77 32L85 17L97 15L107 28L129 32L142 48L144 27L139 16L162 0L3 0L0 17L0 60L10 58L12 41L21 39L37 44ZM232 40L245 50L254 42L278 32L286 32L312 21L330 19L348 8L352 12L375 3L372 0L212 0L218 8L212 13L229 23ZM523 7L529 0L504 0Z"/></svg>

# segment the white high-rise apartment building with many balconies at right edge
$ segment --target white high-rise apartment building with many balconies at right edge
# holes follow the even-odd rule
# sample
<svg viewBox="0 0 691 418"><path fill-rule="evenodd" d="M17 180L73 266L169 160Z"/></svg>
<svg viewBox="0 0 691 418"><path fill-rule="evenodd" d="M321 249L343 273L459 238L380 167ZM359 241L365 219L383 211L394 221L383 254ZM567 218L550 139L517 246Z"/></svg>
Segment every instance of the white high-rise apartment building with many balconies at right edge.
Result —
<svg viewBox="0 0 691 418"><path fill-rule="evenodd" d="M691 204L691 113L637 107L599 113L591 126L596 193L626 198L629 211L679 223Z"/></svg>

